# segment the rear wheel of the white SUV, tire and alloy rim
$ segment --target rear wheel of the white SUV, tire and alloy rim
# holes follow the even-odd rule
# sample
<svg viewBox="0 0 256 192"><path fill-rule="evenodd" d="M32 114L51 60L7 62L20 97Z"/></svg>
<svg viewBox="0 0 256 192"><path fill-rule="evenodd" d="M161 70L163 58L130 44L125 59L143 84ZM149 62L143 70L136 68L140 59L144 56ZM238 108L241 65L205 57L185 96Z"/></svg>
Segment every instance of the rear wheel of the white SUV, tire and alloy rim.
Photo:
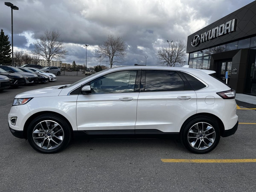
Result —
<svg viewBox="0 0 256 192"><path fill-rule="evenodd" d="M198 116L185 122L181 131L183 145L191 152L204 154L212 151L220 141L220 128L216 120Z"/></svg>

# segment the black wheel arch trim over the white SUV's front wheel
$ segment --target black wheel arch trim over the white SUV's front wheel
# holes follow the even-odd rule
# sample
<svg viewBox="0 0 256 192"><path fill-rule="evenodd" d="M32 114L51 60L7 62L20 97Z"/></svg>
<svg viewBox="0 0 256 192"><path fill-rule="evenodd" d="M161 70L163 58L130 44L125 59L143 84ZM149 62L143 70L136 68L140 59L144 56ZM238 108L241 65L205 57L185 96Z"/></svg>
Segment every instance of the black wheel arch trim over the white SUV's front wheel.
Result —
<svg viewBox="0 0 256 192"><path fill-rule="evenodd" d="M70 122L68 121L68 119L67 119L66 117L64 117L62 114L59 114L59 113L57 113L57 112L52 112L52 111L42 111L42 112L37 112L37 113L33 114L32 116L30 116L30 117L26 120L26 122L25 122L25 124L24 124L24 128L23 128L23 136L24 136L25 139L27 139L27 130L28 130L28 126L29 126L30 122L31 122L34 118L36 118L36 117L38 117L38 116L40 116L40 115L46 115L46 114L55 115L55 116L58 116L58 117L60 117L60 118L63 118L63 119L66 121L66 123L68 124L68 126L69 126L69 128L70 128L70 130L71 130L71 133L73 134L72 125L70 124Z"/></svg>

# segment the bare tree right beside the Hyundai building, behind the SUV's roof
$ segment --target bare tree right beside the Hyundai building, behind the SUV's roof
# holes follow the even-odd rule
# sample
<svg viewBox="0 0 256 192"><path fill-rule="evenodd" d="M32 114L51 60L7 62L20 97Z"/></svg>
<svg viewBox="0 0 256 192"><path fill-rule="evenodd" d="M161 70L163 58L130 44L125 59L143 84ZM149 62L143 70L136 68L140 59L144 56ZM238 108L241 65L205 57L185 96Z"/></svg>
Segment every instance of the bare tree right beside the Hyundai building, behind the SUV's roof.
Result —
<svg viewBox="0 0 256 192"><path fill-rule="evenodd" d="M171 43L170 51L169 51L169 44L165 44L157 52L157 57L160 60L158 64L162 66L173 66L173 67L175 65L183 66L185 56L186 56L186 44L181 40Z"/></svg>

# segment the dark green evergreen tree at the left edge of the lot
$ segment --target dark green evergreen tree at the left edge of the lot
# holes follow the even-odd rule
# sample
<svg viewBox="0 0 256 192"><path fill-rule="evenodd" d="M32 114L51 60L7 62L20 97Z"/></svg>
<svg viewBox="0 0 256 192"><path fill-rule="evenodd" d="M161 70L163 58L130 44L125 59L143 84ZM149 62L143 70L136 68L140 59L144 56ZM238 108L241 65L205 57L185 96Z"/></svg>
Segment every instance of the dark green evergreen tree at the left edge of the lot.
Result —
<svg viewBox="0 0 256 192"><path fill-rule="evenodd" d="M0 33L0 64L12 64L11 44L8 35L4 35L2 29Z"/></svg>

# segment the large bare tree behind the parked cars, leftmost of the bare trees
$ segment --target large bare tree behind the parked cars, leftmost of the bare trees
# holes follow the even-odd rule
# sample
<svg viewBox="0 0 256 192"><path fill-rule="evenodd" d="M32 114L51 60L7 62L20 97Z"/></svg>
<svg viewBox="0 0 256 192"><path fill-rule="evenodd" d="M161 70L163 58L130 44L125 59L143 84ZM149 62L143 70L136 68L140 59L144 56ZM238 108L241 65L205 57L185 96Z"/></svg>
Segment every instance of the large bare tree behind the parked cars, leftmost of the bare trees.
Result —
<svg viewBox="0 0 256 192"><path fill-rule="evenodd" d="M63 40L59 40L60 33L58 31L46 30L44 35L40 36L40 39L34 42L34 50L32 53L36 56L42 56L48 62L50 66L50 60L52 58L65 58L67 50L64 46Z"/></svg>

